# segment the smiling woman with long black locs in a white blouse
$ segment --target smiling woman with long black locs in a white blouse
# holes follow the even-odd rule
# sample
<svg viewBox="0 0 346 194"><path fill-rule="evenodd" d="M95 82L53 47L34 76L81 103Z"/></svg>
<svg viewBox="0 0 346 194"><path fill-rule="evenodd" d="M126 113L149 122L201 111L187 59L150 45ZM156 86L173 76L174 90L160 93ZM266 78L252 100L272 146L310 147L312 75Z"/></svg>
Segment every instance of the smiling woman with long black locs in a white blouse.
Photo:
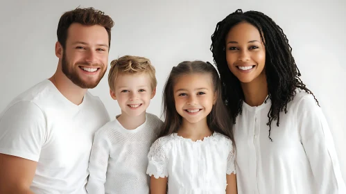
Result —
<svg viewBox="0 0 346 194"><path fill-rule="evenodd" d="M346 193L325 116L282 28L261 12L236 10L211 40L235 121L239 193Z"/></svg>

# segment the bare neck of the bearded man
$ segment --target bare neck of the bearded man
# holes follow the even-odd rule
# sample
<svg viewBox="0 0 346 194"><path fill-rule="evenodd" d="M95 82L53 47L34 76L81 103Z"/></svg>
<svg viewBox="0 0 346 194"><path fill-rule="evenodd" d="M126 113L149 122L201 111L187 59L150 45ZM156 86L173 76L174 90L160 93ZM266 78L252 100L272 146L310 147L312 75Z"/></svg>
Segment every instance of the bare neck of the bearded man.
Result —
<svg viewBox="0 0 346 194"><path fill-rule="evenodd" d="M56 71L49 80L67 100L71 101L71 103L80 105L83 102L87 89L75 85L64 73L62 73L62 71Z"/></svg>

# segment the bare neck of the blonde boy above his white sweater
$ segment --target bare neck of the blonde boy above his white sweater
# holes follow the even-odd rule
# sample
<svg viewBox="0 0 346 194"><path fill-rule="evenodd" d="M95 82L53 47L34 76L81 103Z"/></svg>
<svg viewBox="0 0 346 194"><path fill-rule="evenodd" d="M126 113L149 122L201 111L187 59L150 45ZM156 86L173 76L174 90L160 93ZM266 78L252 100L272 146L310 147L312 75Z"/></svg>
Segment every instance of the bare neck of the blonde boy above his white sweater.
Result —
<svg viewBox="0 0 346 194"><path fill-rule="evenodd" d="M139 116L129 116L125 112L121 112L121 115L116 119L126 130L135 130L146 122L146 112L139 114Z"/></svg>

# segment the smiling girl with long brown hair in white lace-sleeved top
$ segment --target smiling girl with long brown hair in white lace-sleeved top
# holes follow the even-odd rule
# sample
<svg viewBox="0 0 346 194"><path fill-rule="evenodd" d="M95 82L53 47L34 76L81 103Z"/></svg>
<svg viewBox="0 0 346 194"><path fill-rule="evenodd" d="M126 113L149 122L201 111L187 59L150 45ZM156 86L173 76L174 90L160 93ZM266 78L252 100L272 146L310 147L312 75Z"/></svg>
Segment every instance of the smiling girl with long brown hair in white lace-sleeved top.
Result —
<svg viewBox="0 0 346 194"><path fill-rule="evenodd" d="M173 67L164 127L148 154L150 193L236 193L232 121L218 72L201 61Z"/></svg>

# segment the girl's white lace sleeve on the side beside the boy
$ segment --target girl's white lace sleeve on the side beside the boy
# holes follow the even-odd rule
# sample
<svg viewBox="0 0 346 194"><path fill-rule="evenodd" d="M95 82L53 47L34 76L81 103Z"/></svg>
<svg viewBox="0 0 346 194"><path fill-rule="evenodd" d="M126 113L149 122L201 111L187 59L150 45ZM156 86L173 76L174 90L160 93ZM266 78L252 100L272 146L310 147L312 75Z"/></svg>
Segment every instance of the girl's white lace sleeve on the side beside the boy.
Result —
<svg viewBox="0 0 346 194"><path fill-rule="evenodd" d="M159 177L168 177L167 164L168 157L166 156L164 139L157 139L150 147L148 153L148 168L146 173L154 176L156 179Z"/></svg>

